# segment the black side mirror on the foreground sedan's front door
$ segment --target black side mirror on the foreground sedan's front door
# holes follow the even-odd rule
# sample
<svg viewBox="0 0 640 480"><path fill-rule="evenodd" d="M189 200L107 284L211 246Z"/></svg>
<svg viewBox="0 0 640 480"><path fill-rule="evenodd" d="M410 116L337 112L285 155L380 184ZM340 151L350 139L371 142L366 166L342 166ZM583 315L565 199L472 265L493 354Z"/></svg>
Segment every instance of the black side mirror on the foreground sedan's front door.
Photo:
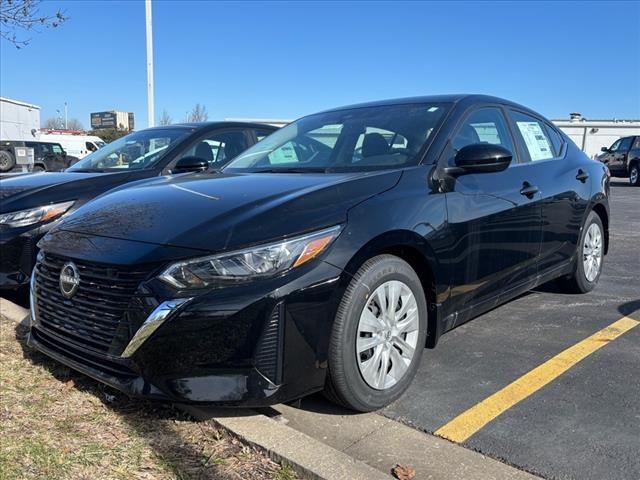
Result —
<svg viewBox="0 0 640 480"><path fill-rule="evenodd" d="M462 147L455 158L455 167L445 168L449 175L466 173L491 173L505 170L513 154L501 145L474 143Z"/></svg>

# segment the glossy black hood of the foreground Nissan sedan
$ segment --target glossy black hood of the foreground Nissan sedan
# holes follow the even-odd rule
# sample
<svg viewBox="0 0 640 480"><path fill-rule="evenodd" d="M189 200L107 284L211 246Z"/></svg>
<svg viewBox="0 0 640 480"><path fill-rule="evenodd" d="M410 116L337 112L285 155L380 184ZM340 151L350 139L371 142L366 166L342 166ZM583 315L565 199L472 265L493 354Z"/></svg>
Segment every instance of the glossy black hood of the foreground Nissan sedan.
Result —
<svg viewBox="0 0 640 480"><path fill-rule="evenodd" d="M223 251L343 223L351 207L400 176L396 170L160 177L97 198L57 229Z"/></svg>

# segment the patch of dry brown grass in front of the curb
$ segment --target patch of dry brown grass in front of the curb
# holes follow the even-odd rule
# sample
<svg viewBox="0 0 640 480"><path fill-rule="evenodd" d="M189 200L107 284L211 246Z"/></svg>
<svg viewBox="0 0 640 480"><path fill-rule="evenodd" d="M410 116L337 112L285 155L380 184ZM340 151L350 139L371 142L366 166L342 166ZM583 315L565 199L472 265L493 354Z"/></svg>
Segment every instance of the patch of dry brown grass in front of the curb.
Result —
<svg viewBox="0 0 640 480"><path fill-rule="evenodd" d="M0 479L296 478L211 422L32 351L26 333L0 315Z"/></svg>

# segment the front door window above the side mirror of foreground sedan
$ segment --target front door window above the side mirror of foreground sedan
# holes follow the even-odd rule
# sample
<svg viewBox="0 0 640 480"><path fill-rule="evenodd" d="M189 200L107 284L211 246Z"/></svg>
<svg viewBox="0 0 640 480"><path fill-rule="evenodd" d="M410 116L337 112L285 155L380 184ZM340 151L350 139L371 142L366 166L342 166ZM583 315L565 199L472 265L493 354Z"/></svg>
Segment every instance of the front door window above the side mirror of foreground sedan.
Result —
<svg viewBox="0 0 640 480"><path fill-rule="evenodd" d="M458 130L452 145L457 153L461 148L475 143L501 145L513 154L514 159L516 158L507 122L498 108L481 108L472 112Z"/></svg>

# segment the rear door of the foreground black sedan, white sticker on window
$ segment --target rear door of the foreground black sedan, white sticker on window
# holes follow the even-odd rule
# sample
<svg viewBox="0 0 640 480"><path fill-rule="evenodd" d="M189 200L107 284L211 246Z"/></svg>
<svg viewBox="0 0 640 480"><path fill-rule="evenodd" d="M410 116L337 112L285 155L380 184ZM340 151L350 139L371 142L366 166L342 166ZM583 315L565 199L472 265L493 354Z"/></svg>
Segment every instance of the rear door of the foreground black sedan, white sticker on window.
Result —
<svg viewBox="0 0 640 480"><path fill-rule="evenodd" d="M592 179L584 168L586 157L567 155L564 139L549 123L515 109L509 116L528 176L540 191L543 228L538 273L542 275L566 266L575 254Z"/></svg>

